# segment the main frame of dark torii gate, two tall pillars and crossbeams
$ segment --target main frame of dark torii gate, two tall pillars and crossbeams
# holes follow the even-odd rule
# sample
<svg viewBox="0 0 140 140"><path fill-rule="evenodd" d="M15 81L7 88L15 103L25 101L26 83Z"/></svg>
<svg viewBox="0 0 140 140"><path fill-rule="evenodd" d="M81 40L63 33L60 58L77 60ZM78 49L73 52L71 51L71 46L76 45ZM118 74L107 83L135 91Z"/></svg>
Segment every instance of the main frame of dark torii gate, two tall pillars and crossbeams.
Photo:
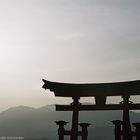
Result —
<svg viewBox="0 0 140 140"><path fill-rule="evenodd" d="M78 135L81 135L78 131L78 115L79 111L85 110L123 110L123 140L132 140L129 110L140 109L140 104L132 104L129 98L131 95L140 95L140 80L115 83L71 84L51 82L43 79L43 82L43 88L53 91L55 96L72 97L73 99L70 105L56 105L57 111L73 111L72 128L71 131L66 132L66 134L71 136L71 140L78 140ZM123 101L120 104L106 104L107 96L121 96ZM82 105L79 103L80 97L95 97L95 105ZM56 123L61 123L62 126L66 124L63 121Z"/></svg>

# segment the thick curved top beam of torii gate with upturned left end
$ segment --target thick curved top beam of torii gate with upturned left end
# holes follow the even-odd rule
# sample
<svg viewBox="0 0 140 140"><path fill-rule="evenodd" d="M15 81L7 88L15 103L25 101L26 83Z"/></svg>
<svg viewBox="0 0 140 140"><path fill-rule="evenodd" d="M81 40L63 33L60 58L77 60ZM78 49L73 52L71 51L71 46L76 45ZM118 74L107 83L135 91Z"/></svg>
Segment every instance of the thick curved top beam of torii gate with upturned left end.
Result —
<svg viewBox="0 0 140 140"><path fill-rule="evenodd" d="M59 83L44 80L42 88L53 91L61 97L102 97L140 95L140 80L113 83Z"/></svg>

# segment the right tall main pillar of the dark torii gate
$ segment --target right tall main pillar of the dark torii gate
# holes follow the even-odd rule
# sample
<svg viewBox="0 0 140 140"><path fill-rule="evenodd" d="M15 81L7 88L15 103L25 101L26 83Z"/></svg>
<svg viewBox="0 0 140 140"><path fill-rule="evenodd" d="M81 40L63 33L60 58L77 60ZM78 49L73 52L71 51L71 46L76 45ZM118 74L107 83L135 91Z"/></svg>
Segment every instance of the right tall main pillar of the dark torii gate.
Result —
<svg viewBox="0 0 140 140"><path fill-rule="evenodd" d="M123 140L132 140L131 124L129 118L129 95L123 98Z"/></svg>

